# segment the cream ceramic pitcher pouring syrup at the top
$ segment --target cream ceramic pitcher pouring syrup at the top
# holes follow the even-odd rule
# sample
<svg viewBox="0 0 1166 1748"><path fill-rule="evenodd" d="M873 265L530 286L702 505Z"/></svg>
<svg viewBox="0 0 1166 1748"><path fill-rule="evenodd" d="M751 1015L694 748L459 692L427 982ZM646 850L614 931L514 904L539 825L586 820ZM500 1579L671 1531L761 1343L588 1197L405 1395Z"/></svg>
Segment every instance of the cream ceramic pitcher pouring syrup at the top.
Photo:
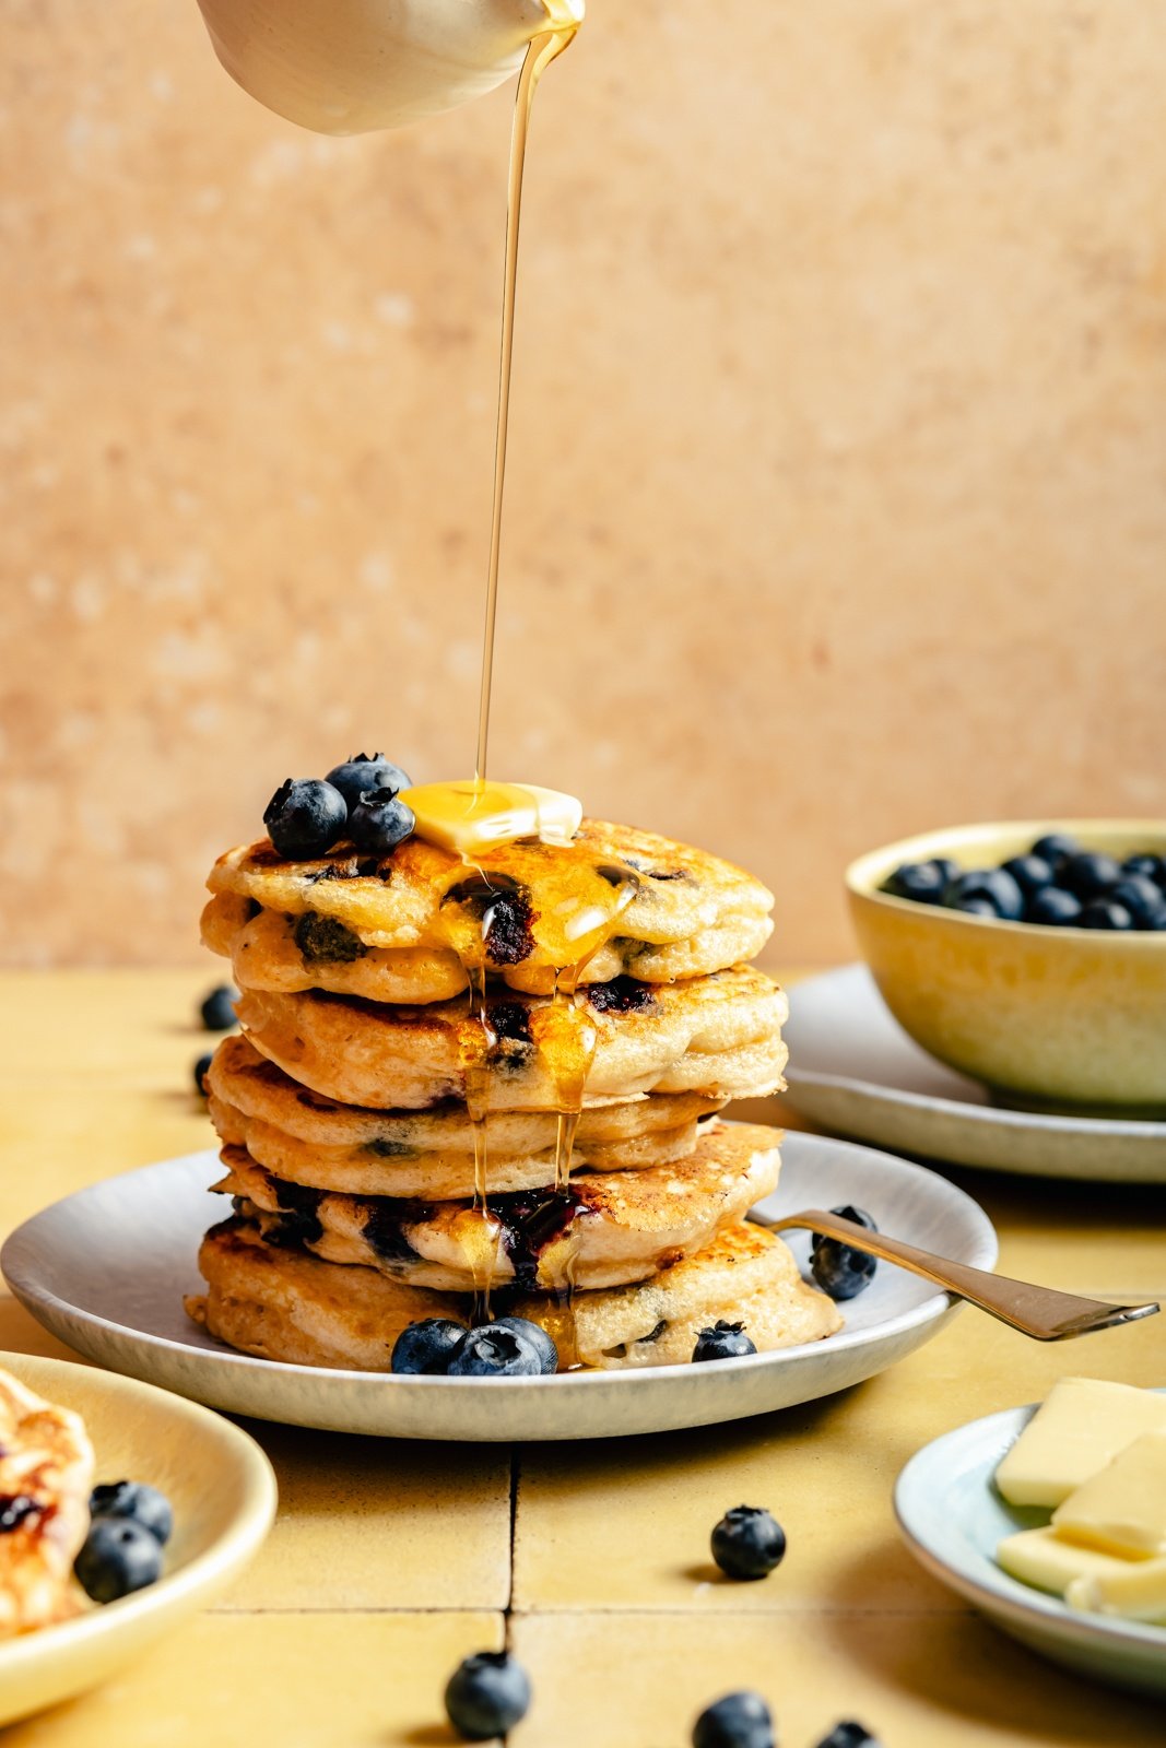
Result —
<svg viewBox="0 0 1166 1748"><path fill-rule="evenodd" d="M215 54L253 98L316 133L437 115L517 72L584 0L198 0Z"/></svg>

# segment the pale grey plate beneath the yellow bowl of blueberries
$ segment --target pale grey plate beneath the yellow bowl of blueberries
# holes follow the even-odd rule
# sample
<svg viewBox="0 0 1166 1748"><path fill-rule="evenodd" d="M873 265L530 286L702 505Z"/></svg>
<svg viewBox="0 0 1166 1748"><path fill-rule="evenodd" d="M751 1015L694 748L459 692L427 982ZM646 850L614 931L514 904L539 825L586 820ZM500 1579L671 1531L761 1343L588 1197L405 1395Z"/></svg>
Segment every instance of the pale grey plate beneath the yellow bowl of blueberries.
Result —
<svg viewBox="0 0 1166 1748"><path fill-rule="evenodd" d="M1100 1183L1166 1183L1166 1122L991 1103L892 1017L865 965L790 991L790 1105L825 1129L956 1166Z"/></svg>

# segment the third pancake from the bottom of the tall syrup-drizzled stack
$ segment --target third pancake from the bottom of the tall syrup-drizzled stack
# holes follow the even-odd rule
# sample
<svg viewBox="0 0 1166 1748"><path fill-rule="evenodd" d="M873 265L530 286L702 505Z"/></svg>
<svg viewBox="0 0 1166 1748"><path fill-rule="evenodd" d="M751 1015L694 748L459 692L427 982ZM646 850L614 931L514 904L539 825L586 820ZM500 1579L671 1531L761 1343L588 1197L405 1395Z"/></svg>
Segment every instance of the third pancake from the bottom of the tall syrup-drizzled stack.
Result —
<svg viewBox="0 0 1166 1748"><path fill-rule="evenodd" d="M219 1045L206 1087L220 1138L246 1147L278 1178L353 1196L474 1196L474 1127L465 1105L425 1112L337 1105L297 1086L243 1037ZM696 1147L698 1119L722 1103L699 1092L652 1092L596 1105L579 1119L573 1164L628 1171L682 1159ZM552 1112L495 1112L489 1189L507 1194L554 1183L556 1131Z"/></svg>

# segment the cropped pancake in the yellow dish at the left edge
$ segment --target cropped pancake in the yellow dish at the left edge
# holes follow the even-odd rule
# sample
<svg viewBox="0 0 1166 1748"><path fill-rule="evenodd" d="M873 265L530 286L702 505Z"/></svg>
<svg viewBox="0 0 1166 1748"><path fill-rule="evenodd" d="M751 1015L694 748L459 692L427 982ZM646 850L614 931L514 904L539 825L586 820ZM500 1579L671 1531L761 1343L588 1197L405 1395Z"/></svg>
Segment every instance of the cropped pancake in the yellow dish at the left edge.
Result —
<svg viewBox="0 0 1166 1748"><path fill-rule="evenodd" d="M0 1372L0 1640L77 1613L91 1488L80 1416Z"/></svg>

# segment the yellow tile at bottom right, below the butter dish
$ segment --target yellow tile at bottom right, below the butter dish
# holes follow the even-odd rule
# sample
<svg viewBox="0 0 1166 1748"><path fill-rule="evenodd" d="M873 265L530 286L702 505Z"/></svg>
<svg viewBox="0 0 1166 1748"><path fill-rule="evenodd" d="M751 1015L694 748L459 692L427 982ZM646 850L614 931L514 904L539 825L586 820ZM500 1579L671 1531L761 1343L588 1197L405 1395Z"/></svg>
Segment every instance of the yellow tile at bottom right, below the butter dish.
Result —
<svg viewBox="0 0 1166 1748"><path fill-rule="evenodd" d="M1149 1748L1157 1706L1091 1687L974 1615L517 1619L535 1703L514 1748L666 1748L736 1689L766 1697L783 1748L857 1718L886 1748ZM586 1717L586 1732L580 1731Z"/></svg>

